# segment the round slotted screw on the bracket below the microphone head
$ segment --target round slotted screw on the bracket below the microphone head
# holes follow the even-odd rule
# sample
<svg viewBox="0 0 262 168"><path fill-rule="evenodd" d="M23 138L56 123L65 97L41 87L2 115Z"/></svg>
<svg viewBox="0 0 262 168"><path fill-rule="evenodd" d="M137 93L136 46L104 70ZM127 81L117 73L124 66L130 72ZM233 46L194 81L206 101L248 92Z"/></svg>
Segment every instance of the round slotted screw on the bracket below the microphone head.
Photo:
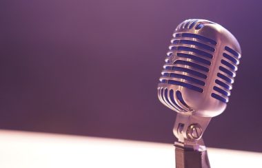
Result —
<svg viewBox="0 0 262 168"><path fill-rule="evenodd" d="M199 124L190 125L186 131L186 135L190 140L199 140L203 135L201 126Z"/></svg>

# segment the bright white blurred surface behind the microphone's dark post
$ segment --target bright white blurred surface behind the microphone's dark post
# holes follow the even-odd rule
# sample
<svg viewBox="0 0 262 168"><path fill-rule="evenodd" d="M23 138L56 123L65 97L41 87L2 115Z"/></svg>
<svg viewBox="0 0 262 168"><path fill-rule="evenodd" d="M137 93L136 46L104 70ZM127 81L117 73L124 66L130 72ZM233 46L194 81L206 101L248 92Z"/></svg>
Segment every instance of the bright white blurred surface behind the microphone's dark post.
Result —
<svg viewBox="0 0 262 168"><path fill-rule="evenodd" d="M262 154L208 148L212 168L262 167ZM0 167L174 168L172 144L0 130Z"/></svg>

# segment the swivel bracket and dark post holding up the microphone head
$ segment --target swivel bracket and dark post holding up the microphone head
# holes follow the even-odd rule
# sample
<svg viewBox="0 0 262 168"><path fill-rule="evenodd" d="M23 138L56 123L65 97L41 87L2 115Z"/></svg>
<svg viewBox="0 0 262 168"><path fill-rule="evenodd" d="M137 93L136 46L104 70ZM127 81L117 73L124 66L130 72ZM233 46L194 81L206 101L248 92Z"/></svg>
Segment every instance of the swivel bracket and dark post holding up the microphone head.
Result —
<svg viewBox="0 0 262 168"><path fill-rule="evenodd" d="M177 114L174 135L176 168L210 168L208 153L203 143L203 132L211 118L192 114Z"/></svg>

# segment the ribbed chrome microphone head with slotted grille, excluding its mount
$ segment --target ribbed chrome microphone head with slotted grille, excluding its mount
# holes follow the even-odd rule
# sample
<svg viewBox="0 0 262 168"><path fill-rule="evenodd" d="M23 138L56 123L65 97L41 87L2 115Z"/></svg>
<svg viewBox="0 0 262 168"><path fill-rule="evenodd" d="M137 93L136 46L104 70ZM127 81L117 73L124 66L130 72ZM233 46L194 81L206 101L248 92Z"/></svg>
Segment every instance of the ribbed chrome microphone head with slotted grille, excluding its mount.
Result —
<svg viewBox="0 0 262 168"><path fill-rule="evenodd" d="M161 103L175 112L221 114L241 57L236 38L221 25L188 19L174 31L157 87Z"/></svg>

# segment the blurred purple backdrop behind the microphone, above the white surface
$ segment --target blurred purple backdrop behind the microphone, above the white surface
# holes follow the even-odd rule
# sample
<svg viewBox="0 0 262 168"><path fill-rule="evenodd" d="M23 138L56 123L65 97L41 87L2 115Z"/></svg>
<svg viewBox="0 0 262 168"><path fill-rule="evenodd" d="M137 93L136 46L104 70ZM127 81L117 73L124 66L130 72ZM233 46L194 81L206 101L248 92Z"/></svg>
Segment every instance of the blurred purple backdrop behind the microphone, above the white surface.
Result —
<svg viewBox="0 0 262 168"><path fill-rule="evenodd" d="M174 28L220 23L239 40L228 107L205 145L262 152L262 1L0 1L0 129L173 143L157 98Z"/></svg>

